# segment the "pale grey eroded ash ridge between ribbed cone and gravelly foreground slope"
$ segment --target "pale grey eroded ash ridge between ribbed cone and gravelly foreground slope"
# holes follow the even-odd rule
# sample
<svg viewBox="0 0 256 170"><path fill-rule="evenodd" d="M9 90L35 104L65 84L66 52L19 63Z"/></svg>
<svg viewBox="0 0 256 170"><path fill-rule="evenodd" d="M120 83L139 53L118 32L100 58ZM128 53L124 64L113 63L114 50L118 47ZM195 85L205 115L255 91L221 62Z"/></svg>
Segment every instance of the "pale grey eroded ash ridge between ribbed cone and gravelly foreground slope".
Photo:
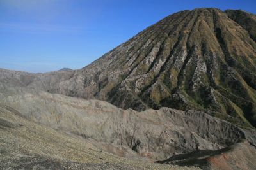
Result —
<svg viewBox="0 0 256 170"><path fill-rule="evenodd" d="M139 113L103 101L24 91L3 97L0 103L38 124L125 146L153 160L166 159L173 153L216 150L246 138L234 125L192 110L161 108Z"/></svg>

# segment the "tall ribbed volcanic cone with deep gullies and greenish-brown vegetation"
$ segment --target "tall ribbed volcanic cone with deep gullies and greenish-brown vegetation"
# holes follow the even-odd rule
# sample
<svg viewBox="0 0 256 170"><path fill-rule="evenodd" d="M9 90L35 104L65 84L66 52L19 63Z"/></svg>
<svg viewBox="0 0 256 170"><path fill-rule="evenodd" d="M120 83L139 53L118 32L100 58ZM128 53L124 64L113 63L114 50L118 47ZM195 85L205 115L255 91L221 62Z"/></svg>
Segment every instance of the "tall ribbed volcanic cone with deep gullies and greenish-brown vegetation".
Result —
<svg viewBox="0 0 256 170"><path fill-rule="evenodd" d="M253 25L255 15L244 11L180 11L81 70L33 74L21 82L124 109L204 110L241 127L255 127Z"/></svg>

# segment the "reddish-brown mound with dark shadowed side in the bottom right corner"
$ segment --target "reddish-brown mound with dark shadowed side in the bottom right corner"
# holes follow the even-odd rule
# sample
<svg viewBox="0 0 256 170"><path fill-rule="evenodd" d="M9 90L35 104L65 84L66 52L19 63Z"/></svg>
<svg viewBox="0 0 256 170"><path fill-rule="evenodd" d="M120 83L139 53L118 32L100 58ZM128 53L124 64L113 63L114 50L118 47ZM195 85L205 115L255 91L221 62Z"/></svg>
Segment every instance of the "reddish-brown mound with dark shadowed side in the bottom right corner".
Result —
<svg viewBox="0 0 256 170"><path fill-rule="evenodd" d="M182 166L198 166L202 169L255 169L255 148L243 141L234 146L220 150L198 150L188 154L174 155L157 163L176 164Z"/></svg>

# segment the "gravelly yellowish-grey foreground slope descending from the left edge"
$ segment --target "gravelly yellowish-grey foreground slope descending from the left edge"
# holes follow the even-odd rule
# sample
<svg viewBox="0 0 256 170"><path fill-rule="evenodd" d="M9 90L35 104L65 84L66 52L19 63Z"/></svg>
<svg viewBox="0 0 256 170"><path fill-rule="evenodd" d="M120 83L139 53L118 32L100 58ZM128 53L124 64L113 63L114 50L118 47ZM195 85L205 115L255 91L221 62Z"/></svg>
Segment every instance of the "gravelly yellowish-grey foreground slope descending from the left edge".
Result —
<svg viewBox="0 0 256 170"><path fill-rule="evenodd" d="M0 106L0 169L197 169L118 157L90 140L35 124L7 108Z"/></svg>

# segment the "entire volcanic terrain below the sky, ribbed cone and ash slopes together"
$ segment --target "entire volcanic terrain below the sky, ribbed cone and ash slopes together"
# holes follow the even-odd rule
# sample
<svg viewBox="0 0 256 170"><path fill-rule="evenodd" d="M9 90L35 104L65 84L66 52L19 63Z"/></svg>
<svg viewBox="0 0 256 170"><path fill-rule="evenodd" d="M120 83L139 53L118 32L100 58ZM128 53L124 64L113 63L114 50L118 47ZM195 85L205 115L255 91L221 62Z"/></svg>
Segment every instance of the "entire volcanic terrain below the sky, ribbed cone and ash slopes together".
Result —
<svg viewBox="0 0 256 170"><path fill-rule="evenodd" d="M255 169L255 28L252 13L198 8L82 69L0 69L0 164Z"/></svg>

